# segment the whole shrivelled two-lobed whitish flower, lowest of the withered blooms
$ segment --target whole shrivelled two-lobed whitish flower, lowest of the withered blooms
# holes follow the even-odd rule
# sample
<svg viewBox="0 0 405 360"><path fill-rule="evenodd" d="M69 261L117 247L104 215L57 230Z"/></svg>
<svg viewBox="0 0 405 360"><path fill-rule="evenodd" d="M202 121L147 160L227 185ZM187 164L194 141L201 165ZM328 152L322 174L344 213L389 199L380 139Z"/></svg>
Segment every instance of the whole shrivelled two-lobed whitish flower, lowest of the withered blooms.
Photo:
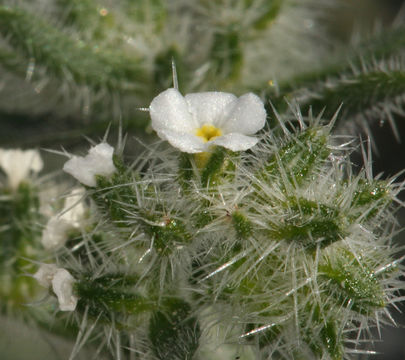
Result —
<svg viewBox="0 0 405 360"><path fill-rule="evenodd" d="M34 278L44 287L50 287L58 298L61 311L74 311L78 298L73 294L75 279L66 269L54 264L42 264Z"/></svg>

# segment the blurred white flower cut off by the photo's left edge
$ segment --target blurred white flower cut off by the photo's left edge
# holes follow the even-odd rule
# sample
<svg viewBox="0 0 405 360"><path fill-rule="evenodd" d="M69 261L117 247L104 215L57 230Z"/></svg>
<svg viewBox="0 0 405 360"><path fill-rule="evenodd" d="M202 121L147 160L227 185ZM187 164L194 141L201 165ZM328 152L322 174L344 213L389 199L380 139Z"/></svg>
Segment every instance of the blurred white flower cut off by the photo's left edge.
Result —
<svg viewBox="0 0 405 360"><path fill-rule="evenodd" d="M40 172L43 166L38 150L0 149L0 167L6 173L12 189L17 189L31 172Z"/></svg>

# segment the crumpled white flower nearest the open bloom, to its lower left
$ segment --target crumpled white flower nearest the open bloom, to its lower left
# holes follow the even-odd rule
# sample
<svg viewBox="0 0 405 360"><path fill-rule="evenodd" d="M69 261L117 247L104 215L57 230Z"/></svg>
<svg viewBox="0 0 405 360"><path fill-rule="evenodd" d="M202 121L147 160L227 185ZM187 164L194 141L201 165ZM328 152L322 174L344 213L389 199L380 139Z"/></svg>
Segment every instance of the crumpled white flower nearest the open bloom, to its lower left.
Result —
<svg viewBox="0 0 405 360"><path fill-rule="evenodd" d="M63 166L63 170L82 184L96 186L95 175L110 176L115 171L112 157L114 148L107 143L93 146L85 156L73 156Z"/></svg>

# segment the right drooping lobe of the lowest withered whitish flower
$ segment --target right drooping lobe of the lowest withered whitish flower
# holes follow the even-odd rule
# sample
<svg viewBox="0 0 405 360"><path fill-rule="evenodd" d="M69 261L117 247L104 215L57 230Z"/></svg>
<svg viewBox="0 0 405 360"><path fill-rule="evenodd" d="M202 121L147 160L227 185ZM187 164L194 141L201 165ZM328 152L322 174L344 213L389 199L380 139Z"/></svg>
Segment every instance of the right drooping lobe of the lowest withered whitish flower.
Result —
<svg viewBox="0 0 405 360"><path fill-rule="evenodd" d="M52 289L58 297L61 311L73 311L76 309L77 297L73 294L75 279L65 269L58 269L52 279Z"/></svg>

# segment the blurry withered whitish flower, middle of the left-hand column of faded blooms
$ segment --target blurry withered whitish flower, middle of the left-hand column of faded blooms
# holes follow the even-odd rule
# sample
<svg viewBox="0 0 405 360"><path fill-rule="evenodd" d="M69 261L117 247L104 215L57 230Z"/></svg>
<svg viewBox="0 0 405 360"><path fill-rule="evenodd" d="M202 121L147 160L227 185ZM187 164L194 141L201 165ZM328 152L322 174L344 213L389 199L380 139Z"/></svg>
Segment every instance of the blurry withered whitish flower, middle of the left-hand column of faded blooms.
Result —
<svg viewBox="0 0 405 360"><path fill-rule="evenodd" d="M66 197L65 206L59 215L52 216L42 232L41 243L45 249L57 249L65 245L68 231L79 228L85 220L84 189L74 189Z"/></svg>

